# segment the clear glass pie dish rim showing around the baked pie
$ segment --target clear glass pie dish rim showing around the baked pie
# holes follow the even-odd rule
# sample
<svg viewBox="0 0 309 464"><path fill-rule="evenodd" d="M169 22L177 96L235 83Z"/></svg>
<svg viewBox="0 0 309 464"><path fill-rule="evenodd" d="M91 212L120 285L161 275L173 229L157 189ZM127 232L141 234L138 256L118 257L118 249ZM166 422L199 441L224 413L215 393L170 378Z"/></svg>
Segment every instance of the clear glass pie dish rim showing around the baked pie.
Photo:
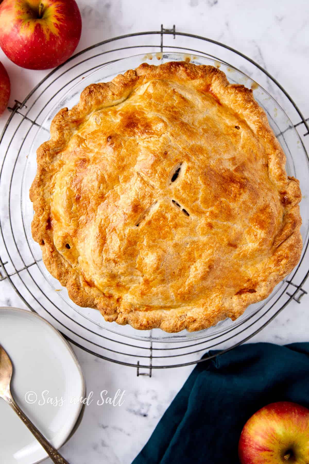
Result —
<svg viewBox="0 0 309 464"><path fill-rule="evenodd" d="M46 270L42 261L41 249L32 239L31 222L33 218L33 210L32 203L29 200L29 188L32 184L32 180L36 174L37 169L36 150L42 142L49 139L50 122L56 113L63 107L72 108L76 103L78 103L80 93L89 84L97 82L108 82L117 74L123 73L128 69L134 69L142 62L147 62L149 64L161 64L168 61L178 61L184 59L190 60L194 64L210 64L220 67L221 71L226 73L227 78L231 83L244 84L246 87L252 88L255 99L259 105L264 108L270 125L284 149L287 158L286 170L288 175L295 176L300 180L300 185L303 192L303 200L300 204L301 215L303 218L301 233L303 236L303 243L307 243L309 229L308 158L305 149L303 148L303 142L301 141L301 138L294 128L293 123L290 121L289 117L281 108L279 103L277 103L277 101L271 97L267 90L259 86L259 84L253 81L252 78L247 76L244 72L239 71L238 69L235 69L230 65L225 64L224 62L218 61L217 59L214 60L209 57L193 54L188 55L179 52L157 52L148 53L145 55L144 53L129 58L123 58L110 64L105 64L88 75L82 75L80 80L75 82L75 84L69 90L66 90L64 95L60 92L61 96L59 96L56 104L55 99L53 100L52 107L49 106L50 103L47 102L47 114L45 115L44 121L42 121L40 124L41 127L38 128L37 133L35 134L32 144L29 148L28 158L24 168L21 192L22 219L25 227L27 241L31 246L33 257L35 258L35 261L38 264L44 279L48 282L52 291L57 291L61 296L63 302L61 304L62 311L64 313L66 311L72 312L73 309L72 314L75 312L76 316L77 314L82 316L82 318L79 317L78 319L79 324L83 324L82 321L84 321L85 326L91 328L90 330L93 333L96 333L97 331L102 333L101 331L103 329L109 332L113 332L114 334L131 337L133 339L144 341L152 340L156 342L186 342L190 340L196 341L199 339L211 339L216 336L221 337L222 335L232 333L235 328L240 327L245 322L248 322L252 316L256 315L259 311L265 308L266 305L271 304L271 301L274 299L277 292L279 292L284 285L284 282L278 284L267 299L260 303L249 306L245 313L234 322L230 319L226 319L225 321L219 322L216 326L207 330L192 333L184 330L177 334L167 334L160 329L153 329L151 332L139 331L132 329L132 327L128 325L120 326L115 322L105 322L99 311L95 309L81 308L73 303L69 299L67 290L62 288L59 282L54 279ZM287 279L288 277L285 279L285 281Z"/></svg>

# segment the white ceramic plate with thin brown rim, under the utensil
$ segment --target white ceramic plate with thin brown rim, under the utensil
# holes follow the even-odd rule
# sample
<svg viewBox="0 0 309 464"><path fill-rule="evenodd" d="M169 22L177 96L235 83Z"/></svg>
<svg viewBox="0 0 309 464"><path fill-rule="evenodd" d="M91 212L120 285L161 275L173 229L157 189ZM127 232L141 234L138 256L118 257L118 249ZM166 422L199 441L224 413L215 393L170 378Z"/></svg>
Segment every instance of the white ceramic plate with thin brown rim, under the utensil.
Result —
<svg viewBox="0 0 309 464"><path fill-rule="evenodd" d="M24 309L0 308L0 344L13 363L13 397L48 441L60 448L82 408L81 402L70 400L85 393L75 354L49 322ZM57 406L47 402L48 397L54 403L57 397ZM33 464L46 457L31 432L0 398L0 463Z"/></svg>

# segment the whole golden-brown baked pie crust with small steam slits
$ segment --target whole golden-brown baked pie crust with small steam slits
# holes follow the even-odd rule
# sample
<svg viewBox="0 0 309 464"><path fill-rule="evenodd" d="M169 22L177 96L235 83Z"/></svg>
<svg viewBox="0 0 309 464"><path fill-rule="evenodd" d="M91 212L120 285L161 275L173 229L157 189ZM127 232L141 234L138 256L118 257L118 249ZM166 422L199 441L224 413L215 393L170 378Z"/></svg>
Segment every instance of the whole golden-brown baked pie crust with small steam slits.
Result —
<svg viewBox="0 0 309 464"><path fill-rule="evenodd" d="M300 258L299 182L252 90L212 66L141 64L88 86L37 161L44 264L107 321L234 320Z"/></svg>

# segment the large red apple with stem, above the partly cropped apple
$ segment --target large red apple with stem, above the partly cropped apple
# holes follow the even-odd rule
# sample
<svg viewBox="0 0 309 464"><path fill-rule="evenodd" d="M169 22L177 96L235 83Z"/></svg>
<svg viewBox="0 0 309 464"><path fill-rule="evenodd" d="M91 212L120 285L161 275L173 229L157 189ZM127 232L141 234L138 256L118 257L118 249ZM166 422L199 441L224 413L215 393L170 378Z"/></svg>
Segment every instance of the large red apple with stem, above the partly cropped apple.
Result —
<svg viewBox="0 0 309 464"><path fill-rule="evenodd" d="M0 46L14 63L48 69L68 59L79 42L82 18L75 0L3 0Z"/></svg>

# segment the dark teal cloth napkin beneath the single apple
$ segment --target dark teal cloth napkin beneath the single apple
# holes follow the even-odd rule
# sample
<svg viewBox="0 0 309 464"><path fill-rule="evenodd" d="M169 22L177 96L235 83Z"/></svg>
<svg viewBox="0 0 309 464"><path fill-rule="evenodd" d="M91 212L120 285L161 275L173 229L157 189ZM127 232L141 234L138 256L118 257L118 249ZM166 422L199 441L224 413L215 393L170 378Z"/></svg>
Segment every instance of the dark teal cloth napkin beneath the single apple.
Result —
<svg viewBox="0 0 309 464"><path fill-rule="evenodd" d="M195 367L133 464L239 464L247 419L283 400L309 408L309 343L241 345Z"/></svg>

